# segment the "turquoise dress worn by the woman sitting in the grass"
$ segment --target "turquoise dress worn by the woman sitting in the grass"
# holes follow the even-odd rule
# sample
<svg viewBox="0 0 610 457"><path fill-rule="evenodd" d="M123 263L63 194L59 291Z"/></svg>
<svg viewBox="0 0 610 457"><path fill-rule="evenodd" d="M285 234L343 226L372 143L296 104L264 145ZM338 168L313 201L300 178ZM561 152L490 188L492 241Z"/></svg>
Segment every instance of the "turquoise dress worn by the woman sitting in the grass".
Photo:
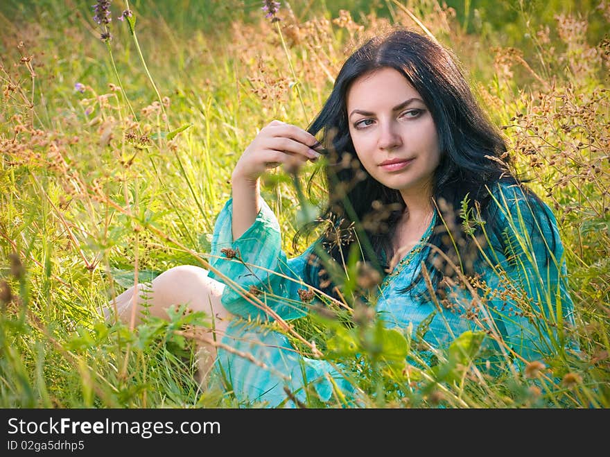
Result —
<svg viewBox="0 0 610 457"><path fill-rule="evenodd" d="M539 360L553 350L555 338L544 335L573 323L573 303L566 284L557 221L548 206L531 205L519 187L500 184L492 196L491 205L498 208L496 217L500 218L500 227L504 227L507 249L500 252L499 240L489 234L485 248L487 265L479 268L478 278L478 284L482 284L478 295L487 303L487 314L478 316L478 320L492 322L490 330L498 332L523 359ZM437 307L431 301L422 302L416 295L399 292L410 284L421 260L427 258L430 247L426 241L436 218L435 214L419 243L378 286L376 310L387 327L403 331L417 329L426 322L424 339L434 347L442 347L464 331L480 330L473 319L476 308L473 308L471 293L456 286L452 302L458 306ZM210 264L224 277L214 271L209 275L225 283L223 306L240 318L229 325L221 340L216 374L228 381L242 405L260 402L262 406L294 407L295 402L288 399L286 389L304 401L305 383L315 388L322 402L331 399L333 390L349 394L353 389L335 365L302 356L286 336L270 330L268 325L259 325L274 318L243 296L243 291L261 291L259 299L283 320L305 316L306 305L299 299L299 289L307 288L300 278L311 249L313 245L298 257L286 257L281 249L277 218L262 199L256 221L235 241L232 239L232 200L218 214ZM227 252L228 257L232 254L235 257L227 258ZM512 305L511 293L515 291L529 295L532 309L519 310ZM546 329L540 328L541 322L559 325Z"/></svg>

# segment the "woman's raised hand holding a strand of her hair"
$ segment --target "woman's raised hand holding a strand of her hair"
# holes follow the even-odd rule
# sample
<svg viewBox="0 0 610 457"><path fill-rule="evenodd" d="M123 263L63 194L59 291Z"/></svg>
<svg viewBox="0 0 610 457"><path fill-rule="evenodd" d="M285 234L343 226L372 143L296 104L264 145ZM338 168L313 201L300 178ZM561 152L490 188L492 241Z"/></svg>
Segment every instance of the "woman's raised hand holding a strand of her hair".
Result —
<svg viewBox="0 0 610 457"><path fill-rule="evenodd" d="M320 154L310 146L320 145L311 133L292 124L271 121L245 149L233 170L232 180L256 182L270 169L284 164L294 173L308 160Z"/></svg>

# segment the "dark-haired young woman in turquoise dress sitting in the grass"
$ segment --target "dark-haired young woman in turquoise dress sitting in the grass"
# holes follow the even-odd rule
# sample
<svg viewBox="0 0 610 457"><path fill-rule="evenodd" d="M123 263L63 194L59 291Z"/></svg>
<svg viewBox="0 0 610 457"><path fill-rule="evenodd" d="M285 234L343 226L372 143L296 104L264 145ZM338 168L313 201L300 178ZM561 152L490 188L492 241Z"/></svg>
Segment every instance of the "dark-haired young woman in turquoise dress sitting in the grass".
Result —
<svg viewBox="0 0 610 457"><path fill-rule="evenodd" d="M260 177L320 155L327 206L304 231L326 230L288 259ZM451 54L412 31L353 53L308 130L280 121L261 129L216 220L214 268L162 273L148 310L164 317L186 303L214 316L220 343L207 345L205 360L240 402L294 406L286 391L303 399L306 384L326 401L333 388L351 390L336 366L257 322L304 316L304 291L340 299L329 271L353 248L369 277L383 279L369 284L378 316L403 331L424 326L430 350L478 329L519 366L564 344L573 305L555 217L510 171L505 141ZM116 298L121 318L136 301L133 288Z"/></svg>

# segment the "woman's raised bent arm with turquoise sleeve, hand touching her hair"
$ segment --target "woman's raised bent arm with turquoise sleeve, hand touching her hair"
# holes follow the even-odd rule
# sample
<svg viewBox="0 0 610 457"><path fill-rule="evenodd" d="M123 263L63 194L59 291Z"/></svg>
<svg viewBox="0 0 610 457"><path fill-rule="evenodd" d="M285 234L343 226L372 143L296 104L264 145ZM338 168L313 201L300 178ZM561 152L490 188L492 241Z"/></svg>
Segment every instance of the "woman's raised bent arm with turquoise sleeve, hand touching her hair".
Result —
<svg viewBox="0 0 610 457"><path fill-rule="evenodd" d="M211 266L238 286L229 285L223 292L223 306L229 312L269 318L263 309L245 300L244 291L254 291L264 294L259 298L281 318L302 316L297 291L302 287L306 256L288 259L281 249L279 223L261 198L260 177L281 164L294 170L319 157L307 146L316 143L305 130L272 121L238 160L232 174L232 198L216 218L211 243ZM210 275L223 281L214 272Z"/></svg>

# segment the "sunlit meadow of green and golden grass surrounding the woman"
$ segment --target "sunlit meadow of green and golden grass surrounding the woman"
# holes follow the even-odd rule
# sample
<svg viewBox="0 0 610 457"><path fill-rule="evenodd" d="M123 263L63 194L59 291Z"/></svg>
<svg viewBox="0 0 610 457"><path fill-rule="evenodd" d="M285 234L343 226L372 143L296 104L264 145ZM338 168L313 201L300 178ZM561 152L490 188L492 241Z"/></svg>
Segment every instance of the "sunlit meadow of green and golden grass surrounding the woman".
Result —
<svg viewBox="0 0 610 457"><path fill-rule="evenodd" d="M401 24L453 50L555 212L577 349L491 374L464 335L433 365L411 365L417 341L354 306L346 280L332 317L286 327L304 354L347 367L361 402L290 406L608 408L610 1L293 0L276 17L263 3L0 2L0 407L264 406L198 383L206 316L107 324L102 307L134 280L206 266L257 129L306 128L349 51ZM281 168L263 180L288 257L321 205L315 166L297 176L304 195Z"/></svg>

